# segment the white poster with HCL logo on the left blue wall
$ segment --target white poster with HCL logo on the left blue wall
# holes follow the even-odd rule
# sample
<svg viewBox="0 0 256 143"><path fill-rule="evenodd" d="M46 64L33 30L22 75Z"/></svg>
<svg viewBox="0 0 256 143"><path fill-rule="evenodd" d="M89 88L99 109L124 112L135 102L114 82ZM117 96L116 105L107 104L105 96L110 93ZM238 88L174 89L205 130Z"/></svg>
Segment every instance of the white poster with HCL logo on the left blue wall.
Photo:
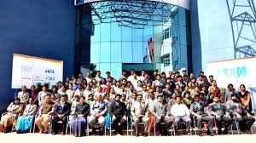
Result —
<svg viewBox="0 0 256 143"><path fill-rule="evenodd" d="M63 61L14 54L12 66L12 89L26 85L30 89L37 83L49 83L49 87L62 81Z"/></svg>

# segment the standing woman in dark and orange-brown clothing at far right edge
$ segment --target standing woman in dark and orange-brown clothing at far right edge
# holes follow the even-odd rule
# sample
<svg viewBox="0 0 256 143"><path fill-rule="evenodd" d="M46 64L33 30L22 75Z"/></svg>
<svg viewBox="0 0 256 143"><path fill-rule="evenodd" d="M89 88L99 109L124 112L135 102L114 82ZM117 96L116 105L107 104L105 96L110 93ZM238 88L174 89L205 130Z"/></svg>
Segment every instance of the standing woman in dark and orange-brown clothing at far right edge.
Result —
<svg viewBox="0 0 256 143"><path fill-rule="evenodd" d="M251 94L247 91L244 84L240 85L240 92L238 93L239 98L241 100L241 106L247 110L250 114L252 114L252 100Z"/></svg>

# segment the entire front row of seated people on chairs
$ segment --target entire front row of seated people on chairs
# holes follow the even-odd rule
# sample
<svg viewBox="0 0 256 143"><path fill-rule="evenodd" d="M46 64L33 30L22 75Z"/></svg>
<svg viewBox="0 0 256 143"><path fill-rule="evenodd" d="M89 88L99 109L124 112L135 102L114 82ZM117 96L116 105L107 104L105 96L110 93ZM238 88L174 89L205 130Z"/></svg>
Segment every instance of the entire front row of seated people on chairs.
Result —
<svg viewBox="0 0 256 143"><path fill-rule="evenodd" d="M100 134L103 134L103 129L108 123L106 116L109 115L114 131L119 134L124 134L126 123L134 124L137 136L139 135L139 125L142 123L144 136L152 128L155 128L156 134L160 135L167 135L172 127L178 133L180 123L185 124L185 134L189 134L191 123L194 123L193 128L197 127L197 134L201 136L202 125L207 125L207 134L213 135L213 124L217 124L218 134L229 134L232 121L238 123L241 133L250 130L255 122L255 118L242 108L237 94L232 94L231 100L225 104L220 103L219 97L215 96L214 102L207 107L200 102L200 97L196 94L195 102L190 106L190 110L181 102L180 97L177 97L176 103L170 106L161 95L158 95L157 100L150 105L143 101L141 94L138 94L130 103L130 109L127 109L125 102L120 101L120 99L121 95L117 94L115 100L109 104L102 100L101 94L97 94L96 101L90 102L89 105L83 96L76 96L75 101L79 103L72 106L67 102L67 95L65 94L61 95L61 100L57 103L54 103L50 99L50 95L46 94L44 103L39 107L33 104L31 98L23 115L19 116L22 105L20 99L15 98L14 102L9 105L8 112L1 117L2 128L0 129L7 132L14 123L17 133L25 133L32 129L32 122L35 119L34 122L38 126L39 133L47 134L51 128L51 133L56 134L57 122L61 121L62 134L66 134L67 124L70 123L73 134L83 136L86 133L87 122L92 129L92 134L96 134L96 129L100 129ZM224 131L222 132L223 123Z"/></svg>

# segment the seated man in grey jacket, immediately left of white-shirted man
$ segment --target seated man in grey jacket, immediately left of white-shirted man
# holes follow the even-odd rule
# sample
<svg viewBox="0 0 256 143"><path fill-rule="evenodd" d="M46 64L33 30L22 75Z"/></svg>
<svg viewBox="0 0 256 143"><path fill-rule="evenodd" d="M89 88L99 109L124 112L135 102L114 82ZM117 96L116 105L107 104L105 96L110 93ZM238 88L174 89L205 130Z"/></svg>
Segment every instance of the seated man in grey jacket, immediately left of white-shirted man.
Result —
<svg viewBox="0 0 256 143"><path fill-rule="evenodd" d="M167 129L172 125L172 119L166 117L167 104L163 100L162 95L158 95L157 101L153 105L153 115L156 131L160 131L161 135L167 135ZM164 127L161 127L161 123L166 123Z"/></svg>

